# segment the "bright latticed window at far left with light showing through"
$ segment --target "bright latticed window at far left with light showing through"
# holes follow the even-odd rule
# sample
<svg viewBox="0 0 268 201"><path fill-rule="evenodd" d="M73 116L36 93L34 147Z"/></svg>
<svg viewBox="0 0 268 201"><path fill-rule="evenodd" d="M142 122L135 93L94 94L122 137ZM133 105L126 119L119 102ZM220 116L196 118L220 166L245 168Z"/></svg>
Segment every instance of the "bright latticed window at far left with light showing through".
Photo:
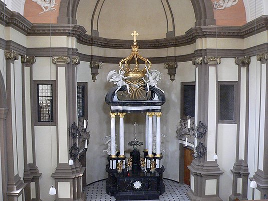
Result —
<svg viewBox="0 0 268 201"><path fill-rule="evenodd" d="M38 84L38 122L53 121L53 93L52 84Z"/></svg>

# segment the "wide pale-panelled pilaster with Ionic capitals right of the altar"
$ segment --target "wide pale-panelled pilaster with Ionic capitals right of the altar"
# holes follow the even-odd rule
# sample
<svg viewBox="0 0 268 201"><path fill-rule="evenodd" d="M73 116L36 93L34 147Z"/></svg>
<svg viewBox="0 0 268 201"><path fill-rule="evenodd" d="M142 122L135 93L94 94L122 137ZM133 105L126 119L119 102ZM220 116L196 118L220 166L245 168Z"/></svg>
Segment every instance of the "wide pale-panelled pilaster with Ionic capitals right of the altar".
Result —
<svg viewBox="0 0 268 201"><path fill-rule="evenodd" d="M190 187L188 196L191 200L222 200L219 197L219 176L223 173L213 159L217 143L217 114L216 108L208 111L211 103L216 105L217 64L220 57L195 57L192 59L196 66L196 99L195 122L208 125L208 132L203 138L197 139L207 147L207 152L201 158L196 158L188 166L190 170ZM212 111L212 112L211 112Z"/></svg>

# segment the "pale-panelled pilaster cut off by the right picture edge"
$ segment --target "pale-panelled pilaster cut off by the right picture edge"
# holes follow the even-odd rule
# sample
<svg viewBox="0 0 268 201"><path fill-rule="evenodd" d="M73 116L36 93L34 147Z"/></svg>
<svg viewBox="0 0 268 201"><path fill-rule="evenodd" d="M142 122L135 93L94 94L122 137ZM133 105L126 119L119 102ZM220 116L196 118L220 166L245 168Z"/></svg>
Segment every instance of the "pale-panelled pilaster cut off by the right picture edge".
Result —
<svg viewBox="0 0 268 201"><path fill-rule="evenodd" d="M253 175L260 191L260 199L268 194L268 52L256 56L257 65L260 65L260 112L258 133L258 164Z"/></svg>

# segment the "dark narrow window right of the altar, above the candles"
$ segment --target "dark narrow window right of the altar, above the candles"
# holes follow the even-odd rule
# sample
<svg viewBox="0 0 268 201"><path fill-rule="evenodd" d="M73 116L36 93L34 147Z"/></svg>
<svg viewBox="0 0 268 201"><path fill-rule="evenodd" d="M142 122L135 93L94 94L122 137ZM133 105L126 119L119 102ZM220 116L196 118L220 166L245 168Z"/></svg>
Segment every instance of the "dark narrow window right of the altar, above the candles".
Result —
<svg viewBox="0 0 268 201"><path fill-rule="evenodd" d="M194 117L195 112L195 82L181 82L181 119Z"/></svg>

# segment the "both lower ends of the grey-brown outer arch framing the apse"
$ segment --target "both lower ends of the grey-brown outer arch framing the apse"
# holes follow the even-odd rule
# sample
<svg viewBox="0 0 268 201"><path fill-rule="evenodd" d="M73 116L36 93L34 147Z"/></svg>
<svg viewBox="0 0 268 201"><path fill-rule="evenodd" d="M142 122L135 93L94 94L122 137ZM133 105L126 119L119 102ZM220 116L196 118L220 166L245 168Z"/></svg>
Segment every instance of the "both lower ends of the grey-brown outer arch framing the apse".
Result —
<svg viewBox="0 0 268 201"><path fill-rule="evenodd" d="M212 2L208 0L190 0L195 15L195 26L215 25ZM76 13L80 0L61 0L58 24L77 24ZM70 5L72 6L70 15Z"/></svg>

